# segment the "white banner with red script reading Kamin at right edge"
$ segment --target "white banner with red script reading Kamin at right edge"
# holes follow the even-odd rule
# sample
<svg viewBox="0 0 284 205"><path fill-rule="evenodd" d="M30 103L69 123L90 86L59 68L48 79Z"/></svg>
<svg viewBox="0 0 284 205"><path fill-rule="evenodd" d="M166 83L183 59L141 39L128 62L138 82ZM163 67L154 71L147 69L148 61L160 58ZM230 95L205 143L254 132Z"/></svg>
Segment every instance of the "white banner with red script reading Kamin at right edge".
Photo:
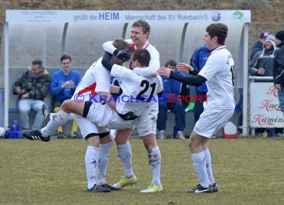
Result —
<svg viewBox="0 0 284 205"><path fill-rule="evenodd" d="M284 127L283 112L273 83L250 84L250 127Z"/></svg>

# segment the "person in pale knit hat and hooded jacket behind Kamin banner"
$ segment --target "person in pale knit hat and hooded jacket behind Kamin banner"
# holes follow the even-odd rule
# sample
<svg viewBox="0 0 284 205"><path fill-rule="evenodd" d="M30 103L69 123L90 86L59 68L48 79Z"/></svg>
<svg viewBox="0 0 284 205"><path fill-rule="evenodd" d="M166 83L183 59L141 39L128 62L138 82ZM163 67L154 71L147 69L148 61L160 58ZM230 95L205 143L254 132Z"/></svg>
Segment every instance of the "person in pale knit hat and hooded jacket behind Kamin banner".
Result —
<svg viewBox="0 0 284 205"><path fill-rule="evenodd" d="M274 56L276 54L274 40L275 36L269 35L263 44L263 50L254 55L249 68L251 76L273 76ZM273 82L273 80L258 80L257 82ZM256 135L263 136L265 130L268 137L276 136L273 128L257 128Z"/></svg>

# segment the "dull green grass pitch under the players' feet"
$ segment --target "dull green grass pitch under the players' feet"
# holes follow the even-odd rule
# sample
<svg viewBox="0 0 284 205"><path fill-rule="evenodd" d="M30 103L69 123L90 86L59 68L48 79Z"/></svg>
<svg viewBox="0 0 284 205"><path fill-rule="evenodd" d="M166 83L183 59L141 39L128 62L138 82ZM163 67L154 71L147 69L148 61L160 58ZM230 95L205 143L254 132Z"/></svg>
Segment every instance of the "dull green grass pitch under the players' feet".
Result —
<svg viewBox="0 0 284 205"><path fill-rule="evenodd" d="M138 183L123 191L88 193L86 142L54 139L44 143L0 140L0 204L80 205L282 205L284 204L284 140L238 138L210 140L212 167L219 192L185 194L198 184L187 140L158 140L162 154L163 193L140 194L151 183L141 139L130 140ZM110 155L107 182L123 175L117 148Z"/></svg>

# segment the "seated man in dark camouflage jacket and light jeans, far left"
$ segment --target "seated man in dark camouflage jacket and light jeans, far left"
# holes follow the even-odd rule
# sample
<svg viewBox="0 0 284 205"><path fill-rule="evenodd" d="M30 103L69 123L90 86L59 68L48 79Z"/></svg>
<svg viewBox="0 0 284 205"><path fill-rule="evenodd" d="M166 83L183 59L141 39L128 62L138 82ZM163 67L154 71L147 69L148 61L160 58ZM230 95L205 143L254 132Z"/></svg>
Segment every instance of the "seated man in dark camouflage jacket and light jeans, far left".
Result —
<svg viewBox="0 0 284 205"><path fill-rule="evenodd" d="M20 126L22 130L40 129L44 116L41 111L43 99L48 95L50 75L43 68L41 60L33 60L31 67L12 85L14 95L19 95L18 109L20 113ZM29 111L36 111L32 127L29 126Z"/></svg>

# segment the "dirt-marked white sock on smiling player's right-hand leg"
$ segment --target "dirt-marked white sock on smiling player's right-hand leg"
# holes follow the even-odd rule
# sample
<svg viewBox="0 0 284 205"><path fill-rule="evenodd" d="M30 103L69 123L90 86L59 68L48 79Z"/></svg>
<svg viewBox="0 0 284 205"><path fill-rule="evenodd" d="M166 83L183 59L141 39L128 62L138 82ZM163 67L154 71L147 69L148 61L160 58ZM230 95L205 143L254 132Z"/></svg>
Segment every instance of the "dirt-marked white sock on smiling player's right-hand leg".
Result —
<svg viewBox="0 0 284 205"><path fill-rule="evenodd" d="M152 183L160 186L161 153L158 146L148 150L148 159L152 170Z"/></svg>

